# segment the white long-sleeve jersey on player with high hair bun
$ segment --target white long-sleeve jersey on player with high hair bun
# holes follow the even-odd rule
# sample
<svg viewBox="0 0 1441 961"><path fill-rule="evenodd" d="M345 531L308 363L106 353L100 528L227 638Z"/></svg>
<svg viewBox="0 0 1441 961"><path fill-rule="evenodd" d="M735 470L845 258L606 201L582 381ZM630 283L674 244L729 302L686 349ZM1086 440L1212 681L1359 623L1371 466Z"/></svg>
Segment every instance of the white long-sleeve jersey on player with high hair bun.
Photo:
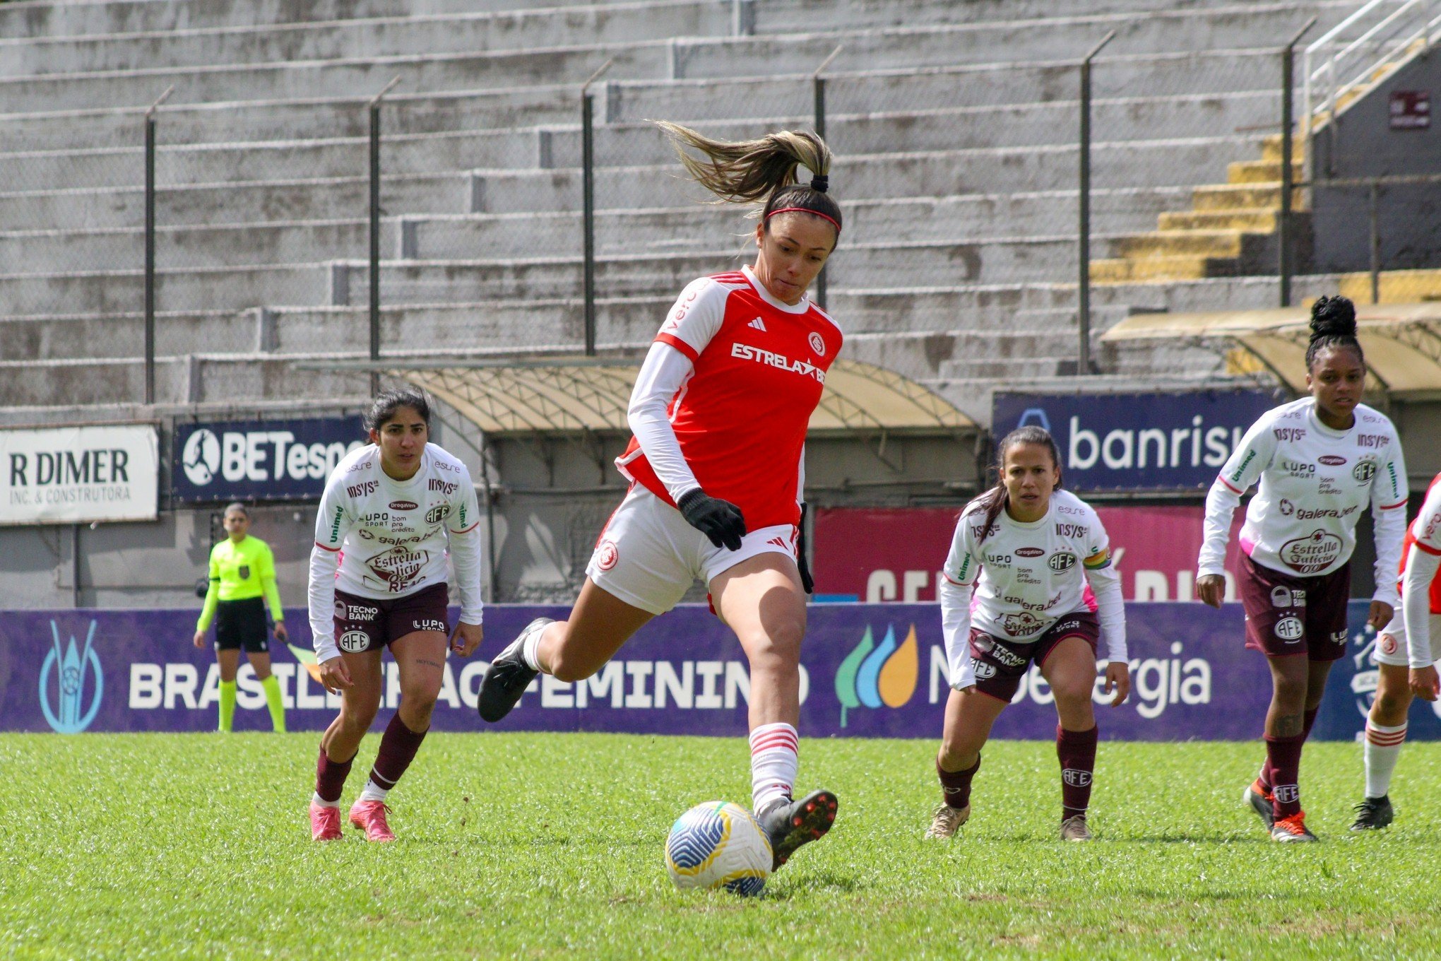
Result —
<svg viewBox="0 0 1441 961"><path fill-rule="evenodd" d="M1264 568L1300 576L1340 569L1356 549L1356 522L1370 506L1376 532L1375 599L1396 605L1401 539L1406 527L1406 464L1396 428L1357 403L1346 431L1316 416L1301 398L1251 425L1206 496L1200 576L1225 571L1231 516L1258 484L1241 527L1241 549Z"/></svg>

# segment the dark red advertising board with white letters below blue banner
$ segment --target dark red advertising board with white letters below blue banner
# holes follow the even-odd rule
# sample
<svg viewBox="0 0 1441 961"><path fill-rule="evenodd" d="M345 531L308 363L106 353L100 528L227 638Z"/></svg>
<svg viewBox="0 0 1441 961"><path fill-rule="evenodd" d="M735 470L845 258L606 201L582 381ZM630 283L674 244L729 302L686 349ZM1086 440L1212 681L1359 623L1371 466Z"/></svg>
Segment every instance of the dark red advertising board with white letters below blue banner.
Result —
<svg viewBox="0 0 1441 961"><path fill-rule="evenodd" d="M830 599L934 601L958 510L953 507L831 507L816 511L816 592ZM1195 599L1202 514L1196 506L1097 507L1111 537L1127 601ZM1226 568L1236 560L1236 513ZM1226 576L1228 599L1235 599Z"/></svg>

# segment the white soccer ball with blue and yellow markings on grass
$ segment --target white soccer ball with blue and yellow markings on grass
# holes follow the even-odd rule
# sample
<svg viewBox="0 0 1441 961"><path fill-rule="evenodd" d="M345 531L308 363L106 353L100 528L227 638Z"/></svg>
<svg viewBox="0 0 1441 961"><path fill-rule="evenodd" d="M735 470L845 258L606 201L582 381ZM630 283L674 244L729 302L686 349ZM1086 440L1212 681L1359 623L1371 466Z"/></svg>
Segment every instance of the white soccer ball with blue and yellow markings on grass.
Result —
<svg viewBox="0 0 1441 961"><path fill-rule="evenodd" d="M670 826L666 869L680 889L758 895L771 875L771 839L739 804L706 801Z"/></svg>

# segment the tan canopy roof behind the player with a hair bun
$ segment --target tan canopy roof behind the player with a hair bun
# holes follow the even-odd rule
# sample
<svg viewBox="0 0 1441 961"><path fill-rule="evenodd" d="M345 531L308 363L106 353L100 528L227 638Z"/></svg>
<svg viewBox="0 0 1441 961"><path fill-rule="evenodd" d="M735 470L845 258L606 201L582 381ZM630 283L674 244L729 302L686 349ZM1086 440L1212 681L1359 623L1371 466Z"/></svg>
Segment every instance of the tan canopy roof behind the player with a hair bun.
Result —
<svg viewBox="0 0 1441 961"><path fill-rule="evenodd" d="M1137 314L1111 327L1101 340L1229 340L1303 393L1308 323L1306 307ZM1357 304L1356 327L1376 388L1391 395L1441 392L1441 303Z"/></svg>

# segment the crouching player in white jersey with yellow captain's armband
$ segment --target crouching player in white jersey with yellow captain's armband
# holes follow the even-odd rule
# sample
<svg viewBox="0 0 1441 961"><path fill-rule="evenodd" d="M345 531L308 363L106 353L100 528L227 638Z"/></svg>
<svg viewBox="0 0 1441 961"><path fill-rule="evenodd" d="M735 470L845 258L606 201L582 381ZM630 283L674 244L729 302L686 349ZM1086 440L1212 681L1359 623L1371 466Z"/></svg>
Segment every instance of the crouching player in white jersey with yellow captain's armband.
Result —
<svg viewBox="0 0 1441 961"><path fill-rule="evenodd" d="M970 817L980 751L1035 663L1061 722L1061 839L1088 841L1097 745L1091 696L1102 635L1111 706L1131 690L1121 581L1101 519L1061 490L1061 454L1049 432L1012 431L999 461L1000 483L961 511L940 584L951 694L935 758L942 804L925 836L951 837Z"/></svg>

